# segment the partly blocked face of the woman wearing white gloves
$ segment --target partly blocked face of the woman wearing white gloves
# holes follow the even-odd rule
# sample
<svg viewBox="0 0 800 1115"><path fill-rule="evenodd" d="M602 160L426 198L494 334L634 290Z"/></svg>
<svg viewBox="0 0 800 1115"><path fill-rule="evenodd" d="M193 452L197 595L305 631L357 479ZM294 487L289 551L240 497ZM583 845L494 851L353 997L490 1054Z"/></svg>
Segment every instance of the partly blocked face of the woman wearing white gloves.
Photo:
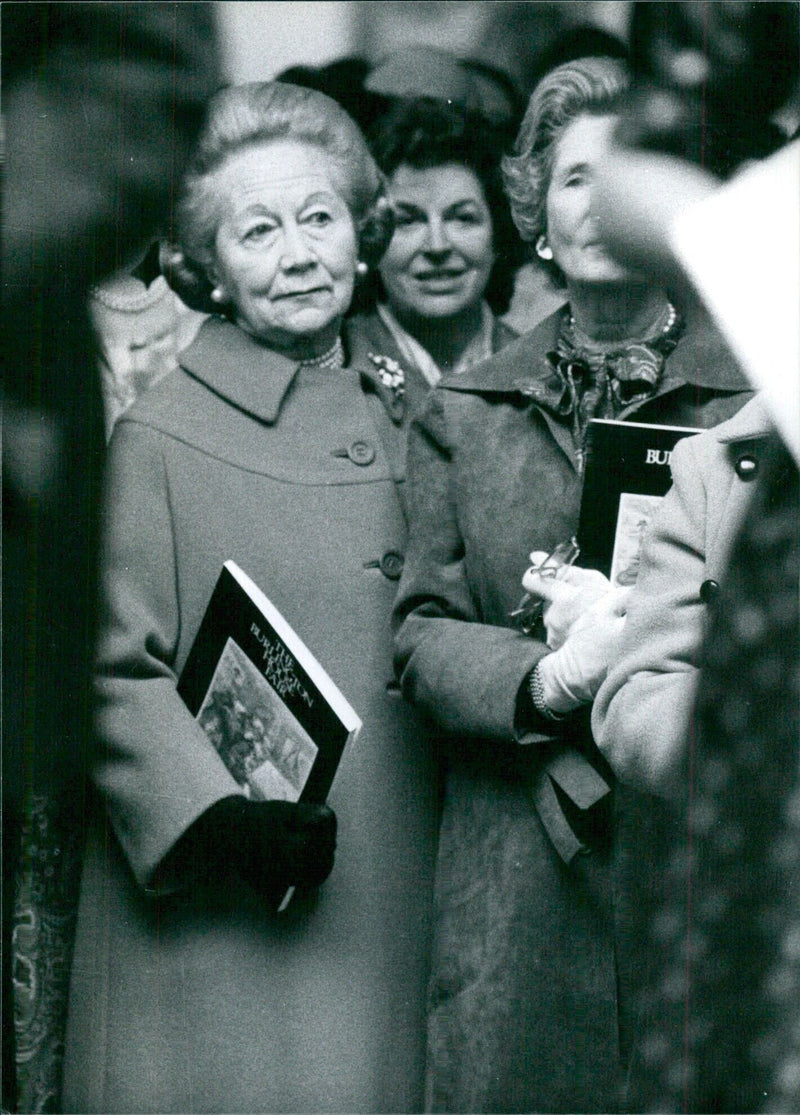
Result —
<svg viewBox="0 0 800 1115"><path fill-rule="evenodd" d="M546 240L568 284L618 282L629 274L604 248L591 215L595 173L616 123L616 116L578 116L556 140Z"/></svg>

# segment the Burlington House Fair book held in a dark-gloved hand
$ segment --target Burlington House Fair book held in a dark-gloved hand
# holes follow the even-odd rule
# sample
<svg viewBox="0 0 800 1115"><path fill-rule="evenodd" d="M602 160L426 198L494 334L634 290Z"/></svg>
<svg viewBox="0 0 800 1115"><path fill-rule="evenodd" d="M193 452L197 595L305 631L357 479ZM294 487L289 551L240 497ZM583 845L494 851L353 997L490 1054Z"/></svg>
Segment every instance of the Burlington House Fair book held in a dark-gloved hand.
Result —
<svg viewBox="0 0 800 1115"><path fill-rule="evenodd" d="M248 797L325 802L356 712L239 566L226 561L177 691Z"/></svg>

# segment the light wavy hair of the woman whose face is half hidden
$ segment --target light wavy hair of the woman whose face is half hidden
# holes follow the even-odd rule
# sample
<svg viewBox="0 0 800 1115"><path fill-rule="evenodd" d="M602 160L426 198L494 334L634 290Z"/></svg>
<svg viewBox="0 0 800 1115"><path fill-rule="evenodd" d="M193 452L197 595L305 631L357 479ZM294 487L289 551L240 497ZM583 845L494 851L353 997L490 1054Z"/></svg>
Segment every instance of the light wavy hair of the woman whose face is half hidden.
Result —
<svg viewBox="0 0 800 1115"><path fill-rule="evenodd" d="M619 59L578 58L557 66L533 90L514 154L502 164L511 214L526 242L536 243L547 233L547 192L559 136L578 116L617 112L628 84Z"/></svg>

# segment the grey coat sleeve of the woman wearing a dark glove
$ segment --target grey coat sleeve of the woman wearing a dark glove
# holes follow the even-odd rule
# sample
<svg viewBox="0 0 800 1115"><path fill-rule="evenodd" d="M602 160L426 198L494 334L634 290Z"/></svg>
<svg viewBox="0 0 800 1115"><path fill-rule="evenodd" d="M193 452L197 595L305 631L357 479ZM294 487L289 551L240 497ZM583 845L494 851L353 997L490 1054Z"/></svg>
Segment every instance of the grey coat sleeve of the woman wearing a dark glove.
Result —
<svg viewBox="0 0 800 1115"><path fill-rule="evenodd" d="M175 689L181 611L162 440L123 420L109 447L93 764L145 888L189 825L240 792Z"/></svg>

